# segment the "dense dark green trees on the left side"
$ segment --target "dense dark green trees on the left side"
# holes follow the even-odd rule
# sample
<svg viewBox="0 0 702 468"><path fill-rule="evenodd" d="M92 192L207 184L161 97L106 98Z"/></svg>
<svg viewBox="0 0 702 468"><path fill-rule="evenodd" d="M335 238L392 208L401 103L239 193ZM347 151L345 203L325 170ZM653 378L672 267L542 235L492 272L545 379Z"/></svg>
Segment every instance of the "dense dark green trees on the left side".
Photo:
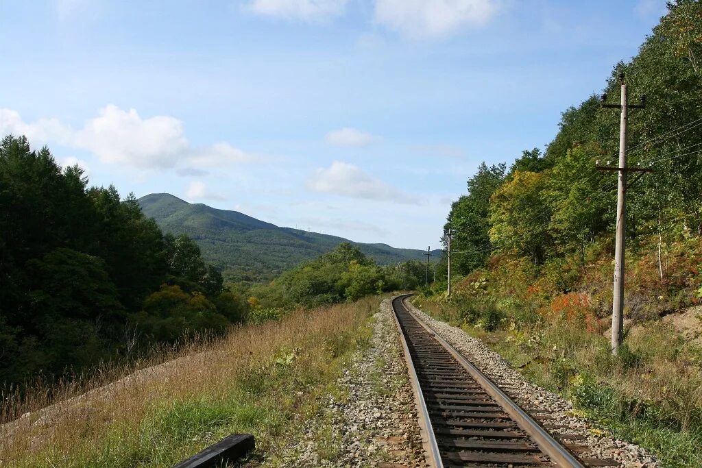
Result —
<svg viewBox="0 0 702 468"><path fill-rule="evenodd" d="M0 142L0 385L224 330L248 308L133 195L88 188L24 137Z"/></svg>

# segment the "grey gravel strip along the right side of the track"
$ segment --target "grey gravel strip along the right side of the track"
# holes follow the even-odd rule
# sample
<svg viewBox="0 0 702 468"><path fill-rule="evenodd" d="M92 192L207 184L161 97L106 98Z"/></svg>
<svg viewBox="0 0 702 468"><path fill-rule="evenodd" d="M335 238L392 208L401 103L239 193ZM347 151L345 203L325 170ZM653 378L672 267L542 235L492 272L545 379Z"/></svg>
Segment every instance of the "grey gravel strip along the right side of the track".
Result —
<svg viewBox="0 0 702 468"><path fill-rule="evenodd" d="M585 453L585 457L611 458L621 463L625 468L658 468L655 455L647 452L639 446L614 439L610 436L597 436L602 430L593 426L590 422L579 417L574 417L570 412L574 410L569 401L551 392L538 387L521 374L514 370L510 363L505 361L499 354L487 347L482 340L471 337L460 328L450 326L448 323L432 319L409 301L406 305L420 319L425 321L435 332L444 337L471 361L477 368L493 380L508 382L514 386L509 394L512 399L524 408L543 408L554 417L554 424L562 424L565 427L557 429L563 434L579 434L587 437L587 441L580 441L587 445L592 452Z"/></svg>

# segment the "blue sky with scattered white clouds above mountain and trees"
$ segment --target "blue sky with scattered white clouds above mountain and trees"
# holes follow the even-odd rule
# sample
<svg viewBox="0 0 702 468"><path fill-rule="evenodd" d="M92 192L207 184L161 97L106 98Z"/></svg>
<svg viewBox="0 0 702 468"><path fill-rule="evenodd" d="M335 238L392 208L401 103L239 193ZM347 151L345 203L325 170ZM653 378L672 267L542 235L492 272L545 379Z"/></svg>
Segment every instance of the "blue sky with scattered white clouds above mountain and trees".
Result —
<svg viewBox="0 0 702 468"><path fill-rule="evenodd" d="M439 248L665 0L0 0L0 135L122 196Z"/></svg>

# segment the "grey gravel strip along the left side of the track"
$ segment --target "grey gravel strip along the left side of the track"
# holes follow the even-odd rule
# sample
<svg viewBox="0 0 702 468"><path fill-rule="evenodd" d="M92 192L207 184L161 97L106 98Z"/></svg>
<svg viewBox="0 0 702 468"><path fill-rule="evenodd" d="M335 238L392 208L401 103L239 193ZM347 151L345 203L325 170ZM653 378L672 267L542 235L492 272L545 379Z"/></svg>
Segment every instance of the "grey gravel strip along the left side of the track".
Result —
<svg viewBox="0 0 702 468"><path fill-rule="evenodd" d="M326 396L303 427L307 440L285 448L285 467L425 467L416 406L390 300L374 316L371 346L338 380L345 397Z"/></svg>

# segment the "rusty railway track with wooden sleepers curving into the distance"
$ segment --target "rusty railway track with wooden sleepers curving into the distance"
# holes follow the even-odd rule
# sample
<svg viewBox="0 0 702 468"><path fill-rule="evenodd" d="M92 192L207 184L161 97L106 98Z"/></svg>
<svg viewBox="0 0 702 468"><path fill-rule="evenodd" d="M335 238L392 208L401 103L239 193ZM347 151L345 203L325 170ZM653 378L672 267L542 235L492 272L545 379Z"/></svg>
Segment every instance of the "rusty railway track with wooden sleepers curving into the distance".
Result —
<svg viewBox="0 0 702 468"><path fill-rule="evenodd" d="M416 396L428 462L434 467L611 467L614 460L578 457L578 436L551 434L548 408L531 414L510 388L489 380L395 297L392 309ZM550 427L549 427L550 426Z"/></svg>

